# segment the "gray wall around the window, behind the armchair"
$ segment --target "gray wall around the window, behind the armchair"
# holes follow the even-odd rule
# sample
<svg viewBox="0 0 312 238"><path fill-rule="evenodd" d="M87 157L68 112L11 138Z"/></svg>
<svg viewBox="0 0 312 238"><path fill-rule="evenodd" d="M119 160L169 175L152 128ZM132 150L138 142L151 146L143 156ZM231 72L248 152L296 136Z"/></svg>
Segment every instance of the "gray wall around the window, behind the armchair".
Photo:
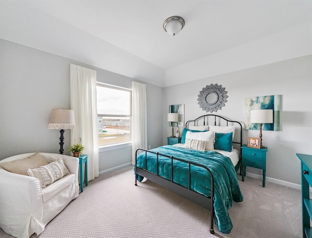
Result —
<svg viewBox="0 0 312 238"><path fill-rule="evenodd" d="M0 159L35 151L59 153L59 130L49 130L48 122L52 108L70 108L71 63L95 69L101 82L131 88L136 80L10 41L0 40L0 45ZM162 144L163 89L146 83L146 91L148 144L157 147ZM70 130L64 137L67 150ZM130 163L129 151L131 147L99 153L99 170Z"/></svg>

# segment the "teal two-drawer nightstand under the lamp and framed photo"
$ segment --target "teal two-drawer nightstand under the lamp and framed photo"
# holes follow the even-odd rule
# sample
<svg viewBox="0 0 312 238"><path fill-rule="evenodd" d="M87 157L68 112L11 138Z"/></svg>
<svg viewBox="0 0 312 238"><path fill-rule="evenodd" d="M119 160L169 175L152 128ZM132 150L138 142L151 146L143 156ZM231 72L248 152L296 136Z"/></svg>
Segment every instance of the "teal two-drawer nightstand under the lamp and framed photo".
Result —
<svg viewBox="0 0 312 238"><path fill-rule="evenodd" d="M262 187L265 187L265 172L268 147L255 149L243 145L242 147L242 181L245 180L246 166L262 169Z"/></svg>

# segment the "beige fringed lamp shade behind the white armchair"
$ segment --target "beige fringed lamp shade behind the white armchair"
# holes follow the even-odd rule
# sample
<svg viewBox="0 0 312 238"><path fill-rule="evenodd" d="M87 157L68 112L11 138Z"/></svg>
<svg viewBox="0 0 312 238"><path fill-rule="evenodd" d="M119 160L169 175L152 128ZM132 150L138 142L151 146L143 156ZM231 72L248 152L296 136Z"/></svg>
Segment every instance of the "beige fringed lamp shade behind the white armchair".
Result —
<svg viewBox="0 0 312 238"><path fill-rule="evenodd" d="M49 121L49 129L74 129L75 115L74 110L52 109Z"/></svg>

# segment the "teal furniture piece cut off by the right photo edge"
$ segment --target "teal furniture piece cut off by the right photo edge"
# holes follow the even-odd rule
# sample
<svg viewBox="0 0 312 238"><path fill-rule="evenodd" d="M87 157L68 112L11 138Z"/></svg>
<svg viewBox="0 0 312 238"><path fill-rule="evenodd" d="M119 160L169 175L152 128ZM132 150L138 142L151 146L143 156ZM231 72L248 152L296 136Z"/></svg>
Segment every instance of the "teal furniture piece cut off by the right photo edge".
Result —
<svg viewBox="0 0 312 238"><path fill-rule="evenodd" d="M309 189L312 186L312 155L296 154L301 160L301 202L302 202L302 237L312 238L310 218L312 218L312 199Z"/></svg>

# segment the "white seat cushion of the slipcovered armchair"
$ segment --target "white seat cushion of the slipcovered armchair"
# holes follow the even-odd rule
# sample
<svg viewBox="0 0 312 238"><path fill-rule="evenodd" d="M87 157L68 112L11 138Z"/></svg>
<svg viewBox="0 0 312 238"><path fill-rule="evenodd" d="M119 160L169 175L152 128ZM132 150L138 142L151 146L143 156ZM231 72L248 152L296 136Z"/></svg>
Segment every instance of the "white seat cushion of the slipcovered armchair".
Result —
<svg viewBox="0 0 312 238"><path fill-rule="evenodd" d="M75 174L69 174L42 189L43 202L59 194L60 191L75 182ZM68 199L68 198L64 198Z"/></svg>

